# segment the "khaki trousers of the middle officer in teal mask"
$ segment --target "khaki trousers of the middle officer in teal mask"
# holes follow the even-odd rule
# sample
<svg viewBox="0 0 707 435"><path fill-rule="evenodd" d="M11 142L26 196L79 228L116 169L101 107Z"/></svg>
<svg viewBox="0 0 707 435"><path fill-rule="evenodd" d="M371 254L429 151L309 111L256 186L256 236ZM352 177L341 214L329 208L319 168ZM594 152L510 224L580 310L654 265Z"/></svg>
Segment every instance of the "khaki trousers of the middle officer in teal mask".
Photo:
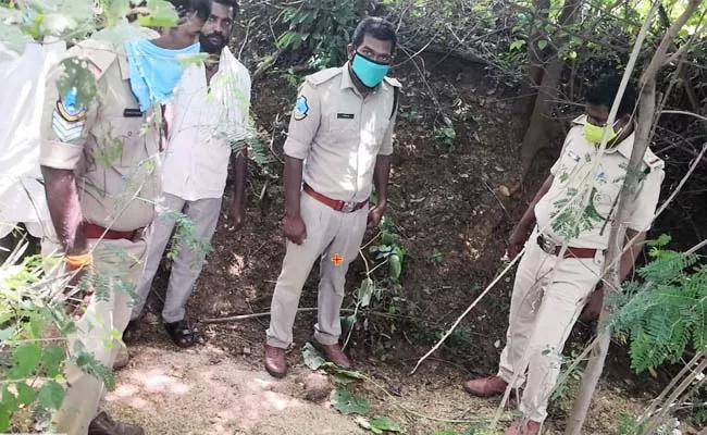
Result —
<svg viewBox="0 0 707 435"><path fill-rule="evenodd" d="M319 310L314 338L334 345L342 335L339 310L349 264L358 257L369 208L351 213L335 211L302 192L300 212L307 227L302 245L287 240L287 253L275 285L268 328L268 345L287 348L293 343L293 326L302 286L314 261L320 259ZM342 258L340 264L332 261Z"/></svg>

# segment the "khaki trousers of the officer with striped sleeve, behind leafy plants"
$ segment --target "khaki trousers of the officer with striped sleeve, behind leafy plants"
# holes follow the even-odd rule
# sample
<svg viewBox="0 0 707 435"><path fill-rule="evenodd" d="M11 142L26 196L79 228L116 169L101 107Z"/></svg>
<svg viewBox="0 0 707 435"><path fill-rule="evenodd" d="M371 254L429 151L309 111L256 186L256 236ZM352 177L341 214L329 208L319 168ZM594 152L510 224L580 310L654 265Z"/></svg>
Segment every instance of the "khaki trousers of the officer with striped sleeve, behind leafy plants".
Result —
<svg viewBox="0 0 707 435"><path fill-rule="evenodd" d="M111 333L120 336L131 320L132 293L142 273L147 252L145 240L95 240L94 266L97 282L106 283L106 299L95 294L84 316L76 322L77 330L67 337L70 353L82 343L85 350L112 370L113 361L122 344L111 339ZM99 300L100 299L100 300ZM69 388L62 407L52 415L53 431L69 435L85 435L96 417L104 393L102 381L86 374L75 364L66 364Z"/></svg>

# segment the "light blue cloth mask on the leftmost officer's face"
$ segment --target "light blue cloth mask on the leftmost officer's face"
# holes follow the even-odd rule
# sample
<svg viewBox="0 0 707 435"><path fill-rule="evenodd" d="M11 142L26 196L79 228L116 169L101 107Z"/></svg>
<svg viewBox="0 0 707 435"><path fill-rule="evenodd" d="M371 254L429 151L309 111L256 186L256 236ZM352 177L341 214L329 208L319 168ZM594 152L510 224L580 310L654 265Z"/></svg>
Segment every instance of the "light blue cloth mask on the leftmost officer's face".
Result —
<svg viewBox="0 0 707 435"><path fill-rule="evenodd" d="M199 42L181 50L161 48L147 39L125 42L131 88L142 112L172 97L184 72L179 58L198 54L200 48Z"/></svg>

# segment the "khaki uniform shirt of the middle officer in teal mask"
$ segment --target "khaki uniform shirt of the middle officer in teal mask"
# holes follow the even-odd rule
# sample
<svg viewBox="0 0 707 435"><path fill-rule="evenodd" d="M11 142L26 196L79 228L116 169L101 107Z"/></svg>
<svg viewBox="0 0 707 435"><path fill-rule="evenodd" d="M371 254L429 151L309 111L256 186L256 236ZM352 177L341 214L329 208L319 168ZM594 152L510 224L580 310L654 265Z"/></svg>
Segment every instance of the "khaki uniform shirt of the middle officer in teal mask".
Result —
<svg viewBox="0 0 707 435"><path fill-rule="evenodd" d="M377 156L393 153L395 87L385 77L363 98L348 63L306 78L285 141L287 156L305 160L305 183L342 201L369 198Z"/></svg>

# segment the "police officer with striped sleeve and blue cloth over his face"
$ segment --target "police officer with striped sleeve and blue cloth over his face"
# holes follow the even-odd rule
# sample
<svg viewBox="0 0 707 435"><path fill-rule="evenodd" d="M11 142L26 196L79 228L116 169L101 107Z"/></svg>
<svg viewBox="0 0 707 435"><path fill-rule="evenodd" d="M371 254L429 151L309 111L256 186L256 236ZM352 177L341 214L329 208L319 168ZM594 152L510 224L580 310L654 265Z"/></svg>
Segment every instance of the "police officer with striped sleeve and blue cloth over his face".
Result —
<svg viewBox="0 0 707 435"><path fill-rule="evenodd" d="M176 0L175 0L176 1ZM184 1L178 1L184 7ZM194 45L210 13L208 0L188 1L177 27L151 41L165 50ZM142 228L153 217L160 194L159 150L163 124L160 107L142 112L134 91L131 64L123 46L86 40L64 62L85 62L96 78L96 97L85 104L76 87L60 95L62 64L47 83L41 125L40 164L51 219L69 271L89 277L92 290L74 312L76 332L70 352L83 347L111 366L121 348L107 340L122 333L131 316L131 294L146 254ZM156 125L157 124L157 125ZM144 128L148 125L147 130ZM96 295L92 295L92 293ZM100 296L99 296L100 295ZM69 363L67 391L52 417L58 433L82 435L142 434L141 427L96 415L102 382Z"/></svg>

